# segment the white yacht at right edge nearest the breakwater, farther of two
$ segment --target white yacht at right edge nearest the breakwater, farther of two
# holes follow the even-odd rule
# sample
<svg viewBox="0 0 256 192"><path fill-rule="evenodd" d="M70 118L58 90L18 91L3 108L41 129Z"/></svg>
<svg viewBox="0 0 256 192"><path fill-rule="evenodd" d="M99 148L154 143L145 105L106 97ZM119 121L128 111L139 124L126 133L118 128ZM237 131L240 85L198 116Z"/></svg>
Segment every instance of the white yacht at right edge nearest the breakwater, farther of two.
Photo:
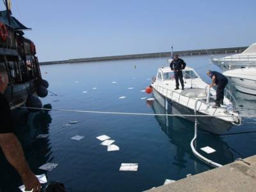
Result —
<svg viewBox="0 0 256 192"><path fill-rule="evenodd" d="M250 45L240 54L233 54L224 58L212 58L211 62L224 71L235 68L256 67L256 43Z"/></svg>

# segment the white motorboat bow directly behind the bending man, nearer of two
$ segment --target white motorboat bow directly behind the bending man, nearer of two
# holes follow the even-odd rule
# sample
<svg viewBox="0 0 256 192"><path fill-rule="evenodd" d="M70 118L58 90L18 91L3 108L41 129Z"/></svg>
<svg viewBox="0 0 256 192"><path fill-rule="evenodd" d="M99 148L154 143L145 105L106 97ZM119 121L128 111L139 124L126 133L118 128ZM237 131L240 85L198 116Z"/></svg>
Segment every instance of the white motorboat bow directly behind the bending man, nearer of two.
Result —
<svg viewBox="0 0 256 192"><path fill-rule="evenodd" d="M227 70L223 75L228 77L239 92L256 95L256 67Z"/></svg>

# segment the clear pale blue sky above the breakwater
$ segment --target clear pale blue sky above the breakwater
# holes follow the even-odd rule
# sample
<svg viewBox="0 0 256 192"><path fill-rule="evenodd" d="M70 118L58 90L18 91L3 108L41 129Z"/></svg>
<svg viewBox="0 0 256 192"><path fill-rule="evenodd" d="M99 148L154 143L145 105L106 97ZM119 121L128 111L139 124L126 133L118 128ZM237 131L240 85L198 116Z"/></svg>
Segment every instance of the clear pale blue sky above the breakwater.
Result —
<svg viewBox="0 0 256 192"><path fill-rule="evenodd" d="M256 1L12 0L40 61L246 46Z"/></svg>

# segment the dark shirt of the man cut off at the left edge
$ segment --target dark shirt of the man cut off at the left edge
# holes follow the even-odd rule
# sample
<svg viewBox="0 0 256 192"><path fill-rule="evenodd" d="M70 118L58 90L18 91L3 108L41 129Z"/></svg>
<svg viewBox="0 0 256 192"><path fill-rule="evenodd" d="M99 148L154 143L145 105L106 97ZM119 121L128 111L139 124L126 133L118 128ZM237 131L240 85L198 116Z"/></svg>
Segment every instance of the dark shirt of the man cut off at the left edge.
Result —
<svg viewBox="0 0 256 192"><path fill-rule="evenodd" d="M3 93L0 93L0 134L10 132L14 132L10 105Z"/></svg>

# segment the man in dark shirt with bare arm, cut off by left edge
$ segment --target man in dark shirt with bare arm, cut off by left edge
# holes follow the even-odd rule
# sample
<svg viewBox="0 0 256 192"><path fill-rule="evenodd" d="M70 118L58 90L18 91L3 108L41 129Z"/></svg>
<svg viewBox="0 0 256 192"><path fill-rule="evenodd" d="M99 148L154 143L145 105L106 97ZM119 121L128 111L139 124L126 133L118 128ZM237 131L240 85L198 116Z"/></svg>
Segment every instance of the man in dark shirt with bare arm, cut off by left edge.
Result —
<svg viewBox="0 0 256 192"><path fill-rule="evenodd" d="M31 172L19 140L15 136L11 118L11 109L3 93L8 86L8 74L4 66L0 65L0 147L7 161L19 172L26 191L40 191L41 184L35 174Z"/></svg>

